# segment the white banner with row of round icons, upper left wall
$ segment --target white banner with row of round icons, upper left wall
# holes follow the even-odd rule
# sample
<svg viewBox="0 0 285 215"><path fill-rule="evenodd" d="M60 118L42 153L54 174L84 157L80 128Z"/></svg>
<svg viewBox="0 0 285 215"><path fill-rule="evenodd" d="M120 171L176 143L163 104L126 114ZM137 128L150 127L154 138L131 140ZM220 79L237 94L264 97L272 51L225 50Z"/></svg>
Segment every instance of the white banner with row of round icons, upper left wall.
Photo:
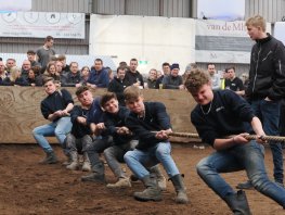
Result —
<svg viewBox="0 0 285 215"><path fill-rule="evenodd" d="M83 13L9 12L0 14L0 37L85 38Z"/></svg>

